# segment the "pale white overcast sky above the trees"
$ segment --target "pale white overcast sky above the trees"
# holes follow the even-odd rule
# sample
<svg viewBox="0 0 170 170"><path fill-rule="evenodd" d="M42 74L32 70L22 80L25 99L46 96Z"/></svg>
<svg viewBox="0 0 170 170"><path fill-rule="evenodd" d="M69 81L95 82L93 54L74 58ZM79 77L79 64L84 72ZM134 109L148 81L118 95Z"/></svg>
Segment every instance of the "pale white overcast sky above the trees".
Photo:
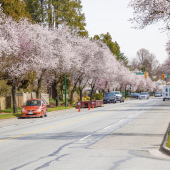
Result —
<svg viewBox="0 0 170 170"><path fill-rule="evenodd" d="M141 48L155 54L160 63L167 58L166 43L168 36L160 30L160 25L151 25L135 30L129 18L133 9L128 7L130 0L82 0L82 12L86 17L86 30L89 36L109 32L117 41L121 52L131 61Z"/></svg>

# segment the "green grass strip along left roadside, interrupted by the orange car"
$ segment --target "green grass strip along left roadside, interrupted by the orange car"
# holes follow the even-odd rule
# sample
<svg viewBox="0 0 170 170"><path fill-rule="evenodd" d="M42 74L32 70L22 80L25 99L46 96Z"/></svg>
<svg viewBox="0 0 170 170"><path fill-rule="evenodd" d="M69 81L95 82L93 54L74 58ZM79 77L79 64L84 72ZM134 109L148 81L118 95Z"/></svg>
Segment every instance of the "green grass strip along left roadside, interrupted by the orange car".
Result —
<svg viewBox="0 0 170 170"><path fill-rule="evenodd" d="M64 107L64 106L56 106L53 108L47 108L47 112L52 112L52 111L58 111L58 110L65 110L65 109L71 109L71 108L75 108L73 106L68 106L68 107ZM5 110L0 110L0 120L3 119L11 119L11 118L16 118L16 117L21 117L21 110L22 108L18 108L18 113L14 113L13 114L13 109L12 108L7 108Z"/></svg>

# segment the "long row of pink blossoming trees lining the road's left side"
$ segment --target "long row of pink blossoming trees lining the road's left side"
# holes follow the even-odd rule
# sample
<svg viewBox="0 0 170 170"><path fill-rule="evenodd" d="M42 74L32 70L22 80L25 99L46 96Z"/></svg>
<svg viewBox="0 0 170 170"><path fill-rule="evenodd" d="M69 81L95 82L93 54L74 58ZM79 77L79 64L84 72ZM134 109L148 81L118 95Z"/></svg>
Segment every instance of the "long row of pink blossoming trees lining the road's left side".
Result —
<svg viewBox="0 0 170 170"><path fill-rule="evenodd" d="M12 87L13 109L17 112L18 88L37 81L39 98L42 82L55 82L56 104L59 103L59 82L70 75L72 96L76 87L82 91L90 85L96 90L125 88L152 91L155 84L150 78L136 76L116 59L107 45L100 40L78 36L79 30L64 24L58 28L47 28L32 24L27 19L14 21L0 9L0 77ZM92 96L92 95L91 95Z"/></svg>

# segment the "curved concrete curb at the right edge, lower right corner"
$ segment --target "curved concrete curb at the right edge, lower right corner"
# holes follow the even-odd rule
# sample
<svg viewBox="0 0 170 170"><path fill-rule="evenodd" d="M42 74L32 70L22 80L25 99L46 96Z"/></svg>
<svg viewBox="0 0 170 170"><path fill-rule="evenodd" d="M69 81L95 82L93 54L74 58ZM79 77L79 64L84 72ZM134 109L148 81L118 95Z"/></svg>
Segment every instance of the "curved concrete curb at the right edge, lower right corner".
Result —
<svg viewBox="0 0 170 170"><path fill-rule="evenodd" d="M164 138L163 138L163 141L161 143L161 146L160 146L160 151L165 153L166 155L169 155L170 156L170 148L168 148L166 146L167 142L168 142L168 135L169 135L169 131L170 131L170 123L168 125L168 128L166 130L166 133L164 135Z"/></svg>

